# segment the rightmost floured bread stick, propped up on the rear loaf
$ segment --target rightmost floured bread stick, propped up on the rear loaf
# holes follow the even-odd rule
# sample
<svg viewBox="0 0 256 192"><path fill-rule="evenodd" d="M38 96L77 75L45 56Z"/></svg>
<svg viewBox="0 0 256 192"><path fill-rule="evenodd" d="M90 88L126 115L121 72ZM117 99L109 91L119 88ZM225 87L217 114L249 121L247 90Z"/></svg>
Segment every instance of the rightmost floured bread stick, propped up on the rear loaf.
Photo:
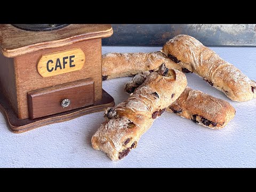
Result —
<svg viewBox="0 0 256 192"><path fill-rule="evenodd" d="M194 37L175 36L165 43L161 52L182 67L203 77L233 101L256 98L255 81Z"/></svg>

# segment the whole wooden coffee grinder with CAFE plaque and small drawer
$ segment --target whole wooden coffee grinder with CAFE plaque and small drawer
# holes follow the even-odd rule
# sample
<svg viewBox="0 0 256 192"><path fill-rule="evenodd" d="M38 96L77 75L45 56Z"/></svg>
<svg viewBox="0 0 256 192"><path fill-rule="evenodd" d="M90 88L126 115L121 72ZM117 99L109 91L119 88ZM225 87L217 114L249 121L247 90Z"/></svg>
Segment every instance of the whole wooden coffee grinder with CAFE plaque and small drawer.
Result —
<svg viewBox="0 0 256 192"><path fill-rule="evenodd" d="M0 25L0 111L12 132L115 105L102 89L101 38L111 25Z"/></svg>

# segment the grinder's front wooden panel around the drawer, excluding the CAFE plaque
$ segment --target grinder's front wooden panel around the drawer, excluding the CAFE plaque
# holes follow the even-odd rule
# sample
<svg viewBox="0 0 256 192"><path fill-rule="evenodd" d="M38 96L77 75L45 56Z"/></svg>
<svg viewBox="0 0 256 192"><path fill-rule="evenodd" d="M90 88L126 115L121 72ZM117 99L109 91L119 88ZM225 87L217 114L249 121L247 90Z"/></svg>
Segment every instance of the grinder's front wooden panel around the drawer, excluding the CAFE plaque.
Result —
<svg viewBox="0 0 256 192"><path fill-rule="evenodd" d="M85 54L85 64L81 70L51 77L42 77L37 71L37 62L42 55L81 49ZM18 117L26 119L28 115L27 93L46 87L61 85L86 78L94 81L94 101L102 97L101 77L101 39L90 39L67 46L31 52L14 58L15 79L17 83Z"/></svg>

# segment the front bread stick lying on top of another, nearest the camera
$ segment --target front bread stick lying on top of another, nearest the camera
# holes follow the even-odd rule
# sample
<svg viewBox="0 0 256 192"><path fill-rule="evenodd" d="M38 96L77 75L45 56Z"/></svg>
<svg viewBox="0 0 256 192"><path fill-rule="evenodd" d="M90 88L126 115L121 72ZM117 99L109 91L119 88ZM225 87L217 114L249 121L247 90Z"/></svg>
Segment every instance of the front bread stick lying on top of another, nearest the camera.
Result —
<svg viewBox="0 0 256 192"><path fill-rule="evenodd" d="M113 161L122 159L186 86L187 79L181 71L162 65L126 101L105 111L106 122L93 135L92 147L107 153Z"/></svg>

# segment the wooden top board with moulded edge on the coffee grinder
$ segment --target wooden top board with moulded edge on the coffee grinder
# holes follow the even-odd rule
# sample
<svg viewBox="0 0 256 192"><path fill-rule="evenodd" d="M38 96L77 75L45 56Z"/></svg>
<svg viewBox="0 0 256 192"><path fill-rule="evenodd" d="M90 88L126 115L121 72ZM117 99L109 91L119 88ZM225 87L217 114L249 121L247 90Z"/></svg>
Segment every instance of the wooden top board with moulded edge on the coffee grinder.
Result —
<svg viewBox="0 0 256 192"><path fill-rule="evenodd" d="M112 34L113 29L109 24L71 24L52 31L26 31L11 24L1 24L0 50L5 57L16 57L88 39L110 37Z"/></svg>

